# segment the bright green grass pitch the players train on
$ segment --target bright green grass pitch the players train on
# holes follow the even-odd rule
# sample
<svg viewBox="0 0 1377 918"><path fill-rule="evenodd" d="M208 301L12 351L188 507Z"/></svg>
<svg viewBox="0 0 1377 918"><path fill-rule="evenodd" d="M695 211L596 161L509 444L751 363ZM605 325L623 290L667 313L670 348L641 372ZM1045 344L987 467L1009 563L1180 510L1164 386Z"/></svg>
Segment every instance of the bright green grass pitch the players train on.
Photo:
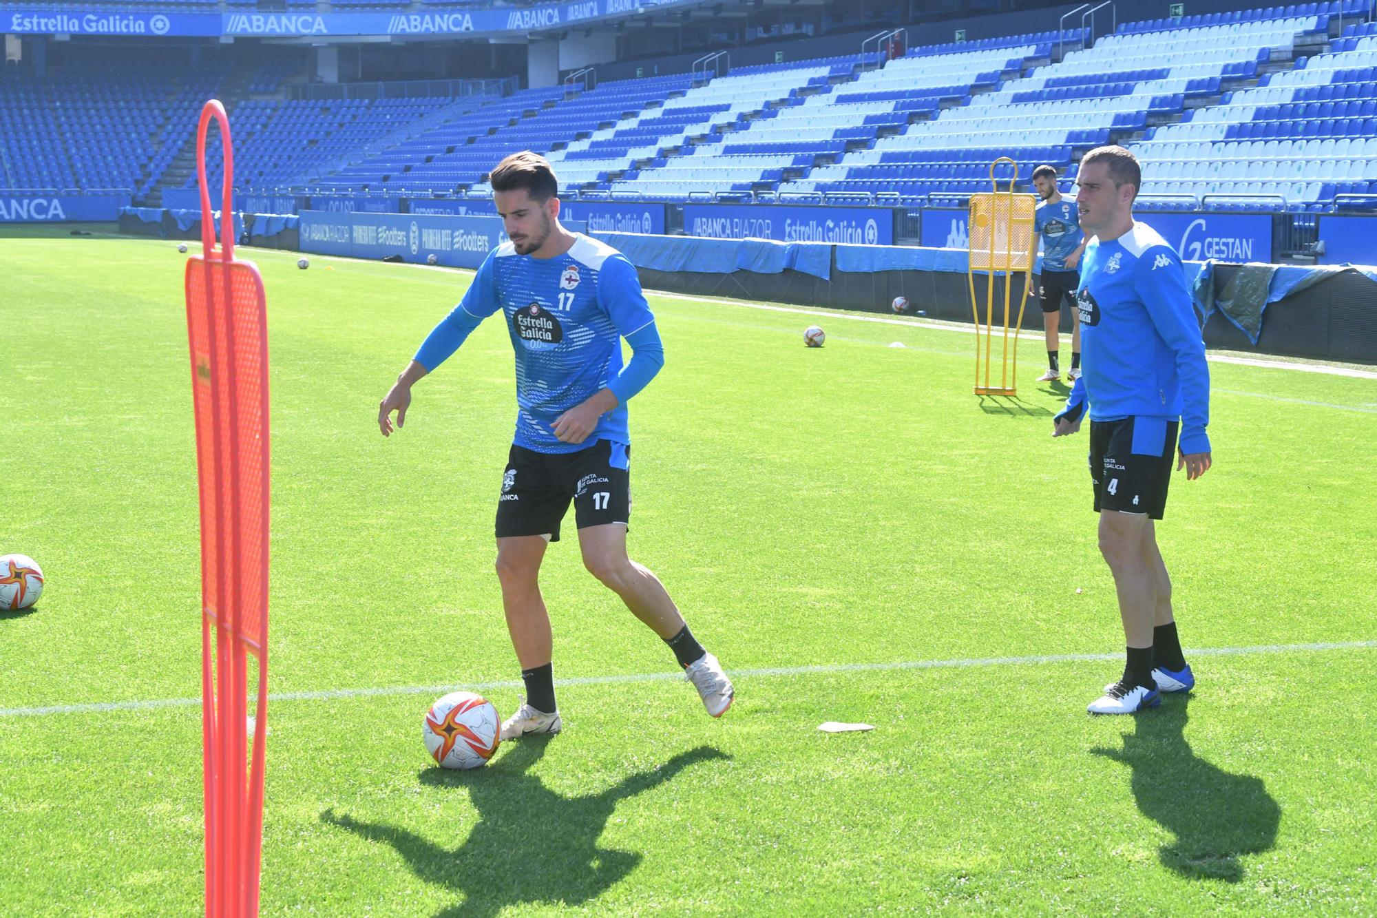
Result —
<svg viewBox="0 0 1377 918"><path fill-rule="evenodd" d="M632 555L737 704L708 718L566 539L544 572L565 733L446 773L420 731L441 689L521 696L492 564L507 334L481 327L384 440L379 398L470 276L249 256L271 691L307 693L270 707L264 915L1377 911L1377 380L1212 364L1216 465L1173 477L1159 533L1188 656L1243 652L1197 653L1190 699L1091 718L1121 663L1064 657L1122 633L1086 436L1051 438L1036 339L1020 404L982 409L969 334L651 295ZM201 907L183 261L0 234L0 551L48 576L0 616L6 915ZM1344 646L1279 648L1319 644ZM324 695L348 689L379 692Z"/></svg>

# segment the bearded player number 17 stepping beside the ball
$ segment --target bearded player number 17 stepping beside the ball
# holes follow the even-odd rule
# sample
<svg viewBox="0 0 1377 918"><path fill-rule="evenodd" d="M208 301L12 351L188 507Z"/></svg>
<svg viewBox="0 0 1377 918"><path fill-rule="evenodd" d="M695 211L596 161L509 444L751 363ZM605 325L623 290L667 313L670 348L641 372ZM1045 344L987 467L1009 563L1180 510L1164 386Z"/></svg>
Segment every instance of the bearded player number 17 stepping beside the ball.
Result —
<svg viewBox="0 0 1377 918"><path fill-rule="evenodd" d="M497 503L497 575L503 609L526 684L526 703L501 737L558 733L549 615L540 562L574 504L584 567L622 598L673 651L713 717L733 700L717 657L702 649L654 573L627 557L631 518L627 401L664 365L655 317L636 269L616 249L559 223L549 163L514 153L490 182L508 240L425 338L377 407L383 436L406 419L412 385L500 312L516 351L516 437ZM621 339L632 347L621 361Z"/></svg>

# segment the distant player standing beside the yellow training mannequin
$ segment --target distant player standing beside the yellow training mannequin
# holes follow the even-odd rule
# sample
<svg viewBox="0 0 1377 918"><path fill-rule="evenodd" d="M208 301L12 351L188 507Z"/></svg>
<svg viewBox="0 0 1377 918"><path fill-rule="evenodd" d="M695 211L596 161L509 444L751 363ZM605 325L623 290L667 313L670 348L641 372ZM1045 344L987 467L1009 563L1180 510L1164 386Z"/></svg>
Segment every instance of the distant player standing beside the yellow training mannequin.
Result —
<svg viewBox="0 0 1377 918"><path fill-rule="evenodd" d="M1074 383L1081 375L1081 320L1075 309L1075 288L1081 283L1077 265L1085 251L1081 218L1075 200L1062 197L1056 187L1056 170L1040 165L1033 170L1033 187L1042 201L1037 205L1034 229L1042 236L1042 273L1038 274L1038 299L1042 303L1042 328L1047 331L1047 372L1038 382L1056 382L1062 371L1058 360L1062 350L1059 325L1062 302L1071 310L1071 368L1066 380ZM1033 276L1029 274L1029 295Z"/></svg>

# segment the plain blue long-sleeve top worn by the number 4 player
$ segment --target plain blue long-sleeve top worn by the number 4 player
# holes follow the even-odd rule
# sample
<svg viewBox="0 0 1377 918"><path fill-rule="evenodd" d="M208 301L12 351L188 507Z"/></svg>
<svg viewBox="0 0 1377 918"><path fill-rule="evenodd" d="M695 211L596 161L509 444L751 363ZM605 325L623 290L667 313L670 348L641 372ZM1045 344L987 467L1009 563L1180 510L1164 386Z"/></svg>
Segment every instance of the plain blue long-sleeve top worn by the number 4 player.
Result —
<svg viewBox="0 0 1377 918"><path fill-rule="evenodd" d="M1181 452L1209 452L1209 365L1180 256L1144 223L1092 240L1081 261L1081 378L1063 415L1181 422ZM1062 415L1059 415L1062 416Z"/></svg>

